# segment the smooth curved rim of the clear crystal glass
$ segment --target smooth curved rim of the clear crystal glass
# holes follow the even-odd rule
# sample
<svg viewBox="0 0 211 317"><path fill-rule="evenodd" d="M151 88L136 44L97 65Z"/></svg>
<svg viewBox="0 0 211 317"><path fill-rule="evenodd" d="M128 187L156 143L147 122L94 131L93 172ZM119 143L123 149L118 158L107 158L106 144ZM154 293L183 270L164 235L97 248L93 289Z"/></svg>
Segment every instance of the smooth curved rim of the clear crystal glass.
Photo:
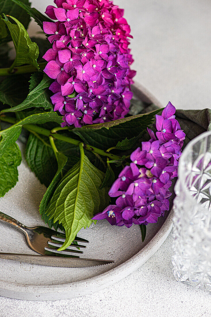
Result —
<svg viewBox="0 0 211 317"><path fill-rule="evenodd" d="M181 182L182 180L182 175L184 175L184 171L185 171L185 160L189 154L190 149L193 147L194 144L196 144L198 141L204 139L205 137L208 137L211 135L211 131L205 131L203 133L201 133L200 135L198 135L197 137L195 137L194 139L192 139L187 146L184 148L184 151L182 151L182 155L179 159L179 165L178 165L178 180L180 181L180 185L182 186L182 189L185 190L185 192L188 194L189 199L191 199L195 204L197 204L198 206L200 206L200 208L206 209L204 206L202 206L200 203L197 203L196 199L190 194L190 191L186 185L185 182Z"/></svg>

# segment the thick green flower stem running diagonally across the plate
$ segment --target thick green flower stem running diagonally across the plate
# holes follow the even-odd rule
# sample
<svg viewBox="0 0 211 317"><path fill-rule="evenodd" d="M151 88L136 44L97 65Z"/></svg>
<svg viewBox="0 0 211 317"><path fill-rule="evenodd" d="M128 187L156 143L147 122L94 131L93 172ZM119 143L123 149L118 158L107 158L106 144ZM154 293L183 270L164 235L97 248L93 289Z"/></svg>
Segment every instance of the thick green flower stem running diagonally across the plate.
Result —
<svg viewBox="0 0 211 317"><path fill-rule="evenodd" d="M5 122L9 122L9 123L12 123L12 124L16 123L16 119L15 118L6 117L4 115L0 116L0 120L5 121ZM28 130L29 132L36 132L38 134L42 134L42 135L45 135L47 137L52 136L54 139L61 140L61 141L64 141L64 142L67 142L67 143L70 143L70 144L74 144L76 146L79 146L80 143L81 143L81 141L69 138L69 137L67 137L65 135L62 135L62 134L59 134L59 133L55 133L54 129L52 131L50 131L50 130L44 129L44 128L40 127L40 126L36 126L34 124L25 124L25 125L23 125L23 128ZM88 151L97 153L99 155L109 157L110 159L121 159L120 156L108 153L106 151L98 149L97 147L90 146L90 145L88 145L86 143L83 143L83 148L88 150Z"/></svg>

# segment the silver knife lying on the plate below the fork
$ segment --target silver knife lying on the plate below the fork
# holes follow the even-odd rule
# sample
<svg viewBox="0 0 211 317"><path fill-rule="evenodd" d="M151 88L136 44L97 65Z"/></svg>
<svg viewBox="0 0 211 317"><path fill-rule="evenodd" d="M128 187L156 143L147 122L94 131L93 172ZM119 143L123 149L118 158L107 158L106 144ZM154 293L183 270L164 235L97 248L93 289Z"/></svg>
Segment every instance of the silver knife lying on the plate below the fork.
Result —
<svg viewBox="0 0 211 317"><path fill-rule="evenodd" d="M30 254L18 254L18 253L1 253L0 258L5 260L13 260L26 262L30 264L56 266L61 268L86 268L96 265L103 265L114 263L115 261L107 260L95 260L95 259L82 259L60 256L41 256Z"/></svg>

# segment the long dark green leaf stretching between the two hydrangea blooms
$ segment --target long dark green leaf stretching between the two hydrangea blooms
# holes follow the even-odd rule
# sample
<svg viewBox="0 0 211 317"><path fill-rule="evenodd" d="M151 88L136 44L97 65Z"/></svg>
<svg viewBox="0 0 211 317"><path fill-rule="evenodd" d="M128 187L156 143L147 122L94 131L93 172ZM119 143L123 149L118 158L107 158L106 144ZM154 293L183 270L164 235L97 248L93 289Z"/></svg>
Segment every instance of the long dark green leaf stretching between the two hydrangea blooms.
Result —
<svg viewBox="0 0 211 317"><path fill-rule="evenodd" d="M99 124L100 127L98 125L87 125L83 128L74 128L72 132L77 134L83 142L107 150L116 146L119 141L124 140L128 135L131 138L137 137L147 126L152 124L155 114L160 111L161 109L158 109L150 113L119 119L121 122L123 121L122 123L115 120ZM106 125L106 127L102 125ZM108 128L110 125L111 127Z"/></svg>

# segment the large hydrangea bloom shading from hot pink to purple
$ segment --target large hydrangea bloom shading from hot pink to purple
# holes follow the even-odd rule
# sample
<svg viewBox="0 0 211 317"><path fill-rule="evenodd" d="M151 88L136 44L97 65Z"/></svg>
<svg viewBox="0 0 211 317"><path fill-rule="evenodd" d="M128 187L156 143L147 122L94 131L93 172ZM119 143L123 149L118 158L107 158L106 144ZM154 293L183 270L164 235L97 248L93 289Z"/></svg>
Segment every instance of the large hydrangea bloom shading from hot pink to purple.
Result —
<svg viewBox="0 0 211 317"><path fill-rule="evenodd" d="M53 43L43 58L44 72L55 81L54 111L63 126L101 123L123 118L129 111L135 71L128 48L130 27L124 10L109 0L54 0L44 22ZM76 93L73 97L71 94Z"/></svg>

